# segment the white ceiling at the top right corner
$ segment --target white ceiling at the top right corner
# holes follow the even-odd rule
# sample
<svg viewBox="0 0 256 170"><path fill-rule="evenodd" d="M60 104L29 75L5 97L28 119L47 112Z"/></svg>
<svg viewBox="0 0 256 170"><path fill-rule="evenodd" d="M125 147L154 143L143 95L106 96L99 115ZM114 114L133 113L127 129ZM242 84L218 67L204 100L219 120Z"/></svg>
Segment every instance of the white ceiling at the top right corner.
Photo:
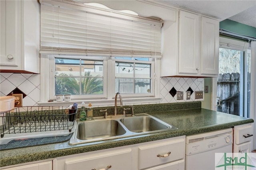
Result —
<svg viewBox="0 0 256 170"><path fill-rule="evenodd" d="M157 0L194 12L256 27L256 0Z"/></svg>

